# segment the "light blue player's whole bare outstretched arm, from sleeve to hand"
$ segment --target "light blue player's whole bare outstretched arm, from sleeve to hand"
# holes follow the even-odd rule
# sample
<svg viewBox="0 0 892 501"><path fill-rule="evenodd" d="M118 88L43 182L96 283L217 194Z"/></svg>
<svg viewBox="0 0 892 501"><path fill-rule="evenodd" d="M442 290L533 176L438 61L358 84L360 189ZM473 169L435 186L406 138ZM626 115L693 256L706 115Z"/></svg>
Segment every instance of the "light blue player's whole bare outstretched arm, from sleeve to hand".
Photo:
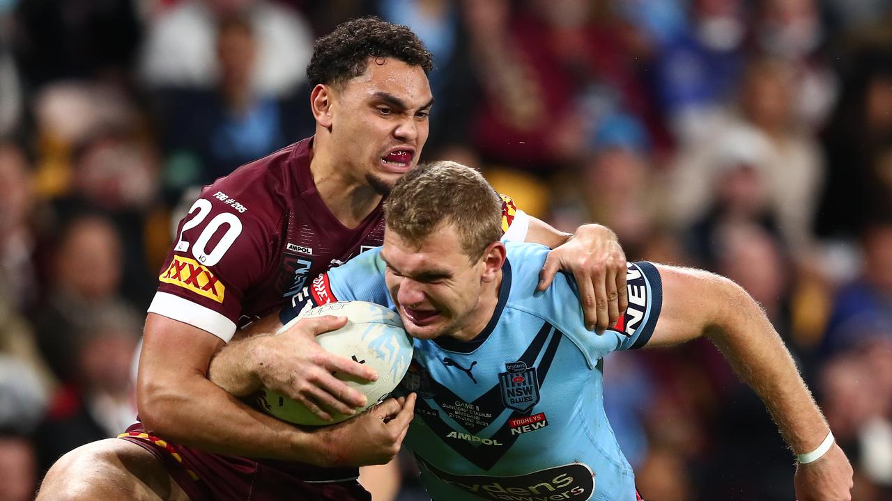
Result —
<svg viewBox="0 0 892 501"><path fill-rule="evenodd" d="M830 433L780 336L759 305L731 280L704 271L657 265L663 307L647 346L658 348L706 336L756 391L797 455L818 448ZM848 500L852 467L836 444L797 464L798 501Z"/></svg>

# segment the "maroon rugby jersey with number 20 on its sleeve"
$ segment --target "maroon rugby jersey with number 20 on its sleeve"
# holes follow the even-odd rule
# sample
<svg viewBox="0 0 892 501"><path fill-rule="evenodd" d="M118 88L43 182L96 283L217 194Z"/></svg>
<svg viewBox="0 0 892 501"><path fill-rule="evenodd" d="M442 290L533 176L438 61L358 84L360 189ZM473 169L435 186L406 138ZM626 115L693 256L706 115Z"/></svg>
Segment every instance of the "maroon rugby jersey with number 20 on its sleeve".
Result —
<svg viewBox="0 0 892 501"><path fill-rule="evenodd" d="M178 227L149 311L229 341L312 278L381 245L383 207L347 228L319 198L311 139L206 186Z"/></svg>

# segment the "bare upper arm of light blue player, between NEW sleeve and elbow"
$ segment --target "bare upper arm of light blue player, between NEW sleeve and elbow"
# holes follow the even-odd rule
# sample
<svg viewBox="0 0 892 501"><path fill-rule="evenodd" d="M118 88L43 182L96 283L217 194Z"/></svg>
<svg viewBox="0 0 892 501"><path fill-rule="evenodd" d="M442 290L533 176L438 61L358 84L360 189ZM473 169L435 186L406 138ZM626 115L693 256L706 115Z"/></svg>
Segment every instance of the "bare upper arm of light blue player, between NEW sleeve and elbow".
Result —
<svg viewBox="0 0 892 501"><path fill-rule="evenodd" d="M665 348L702 336L722 308L735 308L726 300L727 278L684 267L656 265L663 283L663 307L648 348Z"/></svg>

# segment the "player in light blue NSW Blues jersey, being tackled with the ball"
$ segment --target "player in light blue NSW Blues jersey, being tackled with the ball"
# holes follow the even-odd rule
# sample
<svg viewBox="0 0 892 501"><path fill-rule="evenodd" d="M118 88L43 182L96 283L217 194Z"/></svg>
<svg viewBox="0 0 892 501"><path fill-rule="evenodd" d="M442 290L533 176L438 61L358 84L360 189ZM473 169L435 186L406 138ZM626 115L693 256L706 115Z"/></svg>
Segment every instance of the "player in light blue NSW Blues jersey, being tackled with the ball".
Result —
<svg viewBox="0 0 892 501"><path fill-rule="evenodd" d="M415 338L402 382L417 393L406 444L435 501L640 499L604 412L604 358L703 335L764 400L797 453L797 499L850 499L846 456L780 337L737 284L631 264L629 308L614 328L591 333L571 277L535 292L549 250L500 242L499 197L473 169L417 168L385 210L384 246L320 275L280 319L336 300L399 312ZM229 365L224 349L211 379L226 387L219 375Z"/></svg>

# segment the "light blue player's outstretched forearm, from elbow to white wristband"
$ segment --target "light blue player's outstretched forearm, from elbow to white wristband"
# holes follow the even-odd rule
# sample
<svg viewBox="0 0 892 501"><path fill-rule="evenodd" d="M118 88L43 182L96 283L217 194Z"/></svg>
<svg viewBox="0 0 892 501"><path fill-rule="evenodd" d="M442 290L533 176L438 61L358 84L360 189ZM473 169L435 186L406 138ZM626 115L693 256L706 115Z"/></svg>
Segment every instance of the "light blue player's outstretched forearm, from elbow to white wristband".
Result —
<svg viewBox="0 0 892 501"><path fill-rule="evenodd" d="M814 450L829 428L789 350L747 292L730 281L724 288L723 317L706 335L762 398L793 451Z"/></svg>

